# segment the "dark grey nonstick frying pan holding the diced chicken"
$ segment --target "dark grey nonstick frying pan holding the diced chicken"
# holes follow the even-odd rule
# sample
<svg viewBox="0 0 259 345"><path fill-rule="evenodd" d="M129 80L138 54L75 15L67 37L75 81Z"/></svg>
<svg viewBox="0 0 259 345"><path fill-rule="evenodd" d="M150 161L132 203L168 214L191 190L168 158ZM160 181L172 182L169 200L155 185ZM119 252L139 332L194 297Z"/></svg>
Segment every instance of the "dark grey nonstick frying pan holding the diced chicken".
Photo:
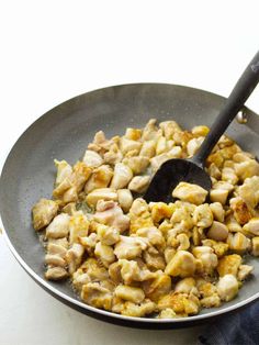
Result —
<svg viewBox="0 0 259 345"><path fill-rule="evenodd" d="M236 312L259 298L259 260L254 277L245 282L238 297L221 308L203 310L199 315L162 320L128 318L82 303L69 281L44 279L44 248L31 224L31 209L41 198L50 198L55 178L53 159L70 164L82 157L97 131L106 136L122 135L128 126L143 126L150 118L176 120L182 127L211 125L225 98L189 87L166 84L134 84L109 87L75 97L36 120L10 152L0 179L0 211L4 235L13 255L27 274L71 308L110 323L142 329L176 329L209 322ZM245 108L246 124L236 121L227 134L248 152L259 153L259 116ZM7 282L8 283L8 282ZM33 297L35 298L35 297Z"/></svg>

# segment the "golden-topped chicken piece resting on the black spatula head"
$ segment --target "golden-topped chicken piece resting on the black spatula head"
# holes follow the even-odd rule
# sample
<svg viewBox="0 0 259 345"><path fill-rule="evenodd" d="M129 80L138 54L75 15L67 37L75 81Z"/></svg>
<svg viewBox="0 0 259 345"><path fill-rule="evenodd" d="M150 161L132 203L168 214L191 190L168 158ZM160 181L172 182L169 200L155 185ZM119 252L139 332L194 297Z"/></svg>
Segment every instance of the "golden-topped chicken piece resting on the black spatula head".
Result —
<svg viewBox="0 0 259 345"><path fill-rule="evenodd" d="M205 201L207 191L198 185L180 182L172 191L172 197L194 204Z"/></svg>

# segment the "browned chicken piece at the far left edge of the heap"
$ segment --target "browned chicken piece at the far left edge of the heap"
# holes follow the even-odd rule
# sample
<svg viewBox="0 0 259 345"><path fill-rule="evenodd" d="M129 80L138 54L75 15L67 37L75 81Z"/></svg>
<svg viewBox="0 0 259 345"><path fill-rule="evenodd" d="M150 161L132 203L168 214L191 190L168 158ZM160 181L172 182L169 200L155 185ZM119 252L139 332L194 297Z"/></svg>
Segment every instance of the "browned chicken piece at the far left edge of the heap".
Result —
<svg viewBox="0 0 259 345"><path fill-rule="evenodd" d="M33 227L36 231L48 225L57 214L58 205L55 201L41 199L32 209Z"/></svg>

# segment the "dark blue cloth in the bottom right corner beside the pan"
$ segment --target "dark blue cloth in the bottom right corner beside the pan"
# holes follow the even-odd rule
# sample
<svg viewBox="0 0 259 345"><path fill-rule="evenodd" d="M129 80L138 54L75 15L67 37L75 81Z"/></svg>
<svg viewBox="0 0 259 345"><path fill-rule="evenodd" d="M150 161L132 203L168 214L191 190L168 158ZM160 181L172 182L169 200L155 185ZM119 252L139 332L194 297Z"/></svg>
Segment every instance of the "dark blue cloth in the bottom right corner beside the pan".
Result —
<svg viewBox="0 0 259 345"><path fill-rule="evenodd" d="M259 301L209 324L199 341L203 345L259 345Z"/></svg>

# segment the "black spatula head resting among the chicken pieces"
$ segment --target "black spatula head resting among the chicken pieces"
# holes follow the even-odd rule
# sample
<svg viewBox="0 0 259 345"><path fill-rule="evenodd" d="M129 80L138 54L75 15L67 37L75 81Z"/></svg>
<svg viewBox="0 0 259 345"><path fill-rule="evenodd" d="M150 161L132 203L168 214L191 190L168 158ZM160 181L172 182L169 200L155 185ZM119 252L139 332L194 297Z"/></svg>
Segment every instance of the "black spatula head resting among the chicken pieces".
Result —
<svg viewBox="0 0 259 345"><path fill-rule="evenodd" d="M172 190L181 181L199 185L210 191L210 176L202 167L188 159L170 159L157 170L144 196L149 201L170 202L173 200Z"/></svg>

